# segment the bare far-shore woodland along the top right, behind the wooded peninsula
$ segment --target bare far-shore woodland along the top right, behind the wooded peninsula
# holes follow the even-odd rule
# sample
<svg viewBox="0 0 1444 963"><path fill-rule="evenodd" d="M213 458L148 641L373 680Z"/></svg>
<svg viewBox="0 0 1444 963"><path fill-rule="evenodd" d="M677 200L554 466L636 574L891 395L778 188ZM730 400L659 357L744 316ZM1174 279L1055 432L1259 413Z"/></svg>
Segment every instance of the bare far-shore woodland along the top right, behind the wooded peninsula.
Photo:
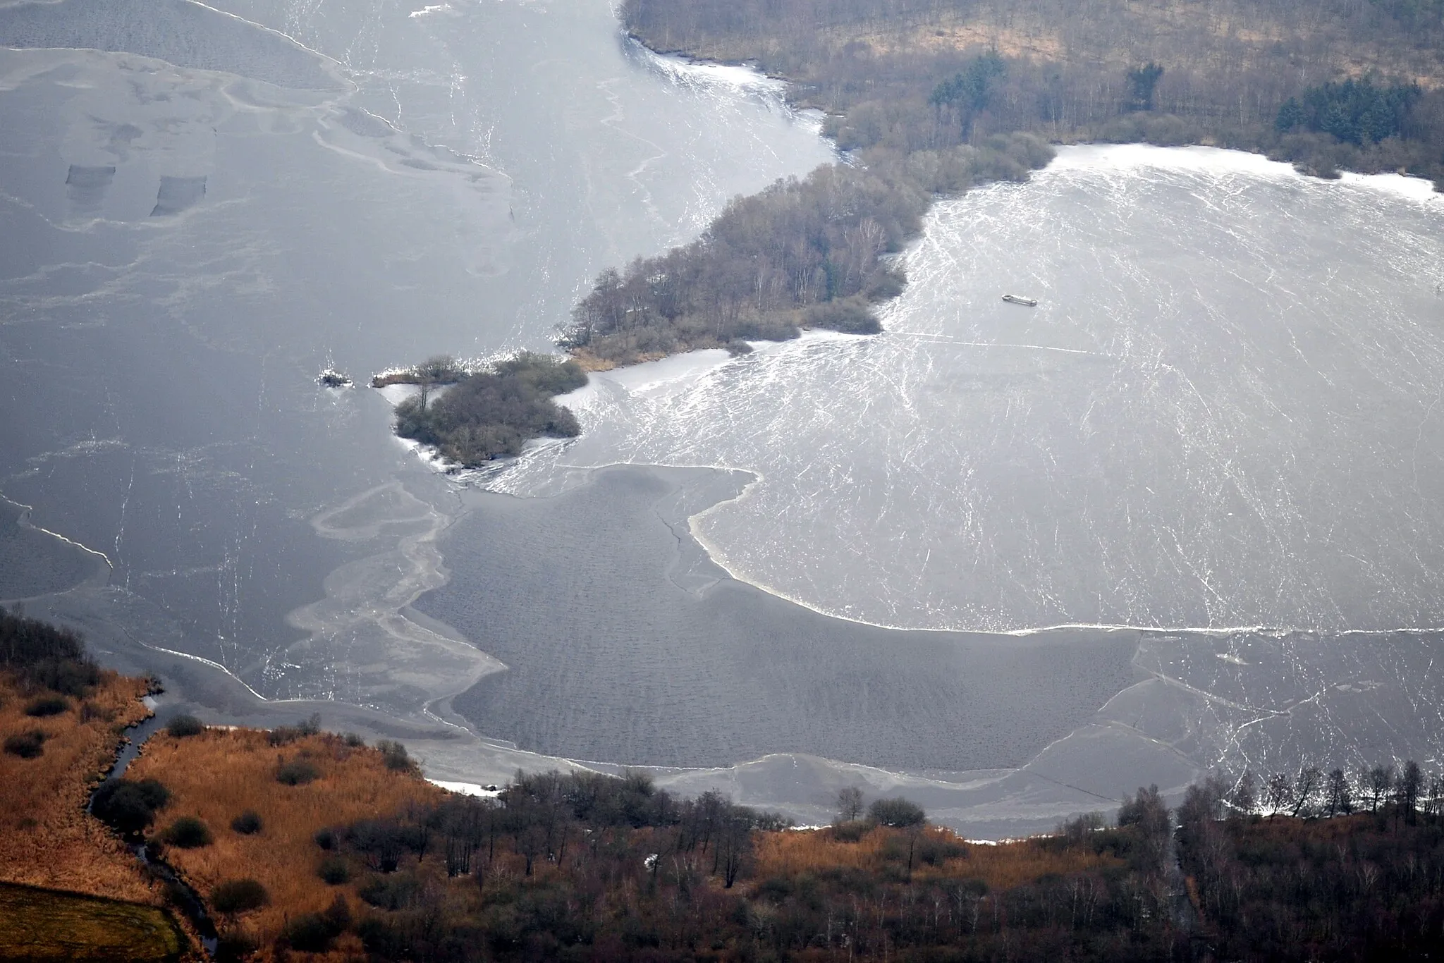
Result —
<svg viewBox="0 0 1444 963"><path fill-rule="evenodd" d="M1307 12L1288 0L1199 0L1167 16L1125 0L628 0L624 17L650 46L787 77L797 103L829 113L845 149L937 150L1022 130L1056 141L1212 143L1321 173L1408 169L1444 183L1435 0L1326 0ZM1327 117L1281 121L1291 98L1333 101L1344 77L1370 71L1405 78L1373 91L1435 82L1405 98L1396 123L1372 128L1380 136Z"/></svg>

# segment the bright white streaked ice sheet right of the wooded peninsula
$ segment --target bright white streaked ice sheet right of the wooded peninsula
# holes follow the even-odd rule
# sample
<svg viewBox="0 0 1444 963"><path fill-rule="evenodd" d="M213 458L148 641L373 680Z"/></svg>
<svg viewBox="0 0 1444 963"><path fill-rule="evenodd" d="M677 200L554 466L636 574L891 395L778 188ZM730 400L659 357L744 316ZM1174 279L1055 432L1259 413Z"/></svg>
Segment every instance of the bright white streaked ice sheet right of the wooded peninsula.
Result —
<svg viewBox="0 0 1444 963"><path fill-rule="evenodd" d="M882 335L604 375L557 458L757 472L719 560L882 625L1444 625L1444 201L1064 149L904 263Z"/></svg>

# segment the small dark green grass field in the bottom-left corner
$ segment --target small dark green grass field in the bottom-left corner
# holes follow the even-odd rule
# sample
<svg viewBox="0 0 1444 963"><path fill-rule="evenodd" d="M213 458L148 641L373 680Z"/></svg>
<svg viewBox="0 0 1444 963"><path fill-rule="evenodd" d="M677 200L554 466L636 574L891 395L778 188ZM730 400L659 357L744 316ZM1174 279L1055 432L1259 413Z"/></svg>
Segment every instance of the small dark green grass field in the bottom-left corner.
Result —
<svg viewBox="0 0 1444 963"><path fill-rule="evenodd" d="M0 882L0 960L178 960L185 937L156 907Z"/></svg>

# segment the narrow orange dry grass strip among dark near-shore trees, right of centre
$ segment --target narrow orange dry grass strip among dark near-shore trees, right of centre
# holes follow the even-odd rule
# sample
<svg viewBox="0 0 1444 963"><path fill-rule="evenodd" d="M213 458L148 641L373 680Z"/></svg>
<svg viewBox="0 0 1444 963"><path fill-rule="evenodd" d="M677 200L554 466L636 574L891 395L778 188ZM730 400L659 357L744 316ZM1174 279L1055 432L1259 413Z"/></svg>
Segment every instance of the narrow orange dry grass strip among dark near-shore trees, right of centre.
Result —
<svg viewBox="0 0 1444 963"><path fill-rule="evenodd" d="M962 839L947 829L928 826L924 839L937 843L962 845ZM874 829L855 843L840 842L832 830L803 830L790 833L758 833L757 878L787 876L799 872L823 872L827 869L859 869L882 873L891 862L897 865L898 853L907 852L905 830ZM952 856L927 865L914 863L913 876L918 882L930 878L982 879L991 889L1011 889L1034 882L1048 873L1073 873L1105 866L1122 866L1112 856L1100 856L1079 849L1054 849L1038 840L1018 840L998 846L966 846L966 855Z"/></svg>

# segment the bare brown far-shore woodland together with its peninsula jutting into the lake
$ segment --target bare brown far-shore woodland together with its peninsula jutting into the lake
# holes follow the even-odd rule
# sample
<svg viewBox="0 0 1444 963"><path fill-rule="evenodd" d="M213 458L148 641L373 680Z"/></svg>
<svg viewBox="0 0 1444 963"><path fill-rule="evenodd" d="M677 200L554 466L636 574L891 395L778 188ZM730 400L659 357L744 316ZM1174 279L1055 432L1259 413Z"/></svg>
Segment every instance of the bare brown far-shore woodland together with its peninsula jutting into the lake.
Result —
<svg viewBox="0 0 1444 963"><path fill-rule="evenodd" d="M848 160L605 271L560 338L591 368L877 331L905 280L888 256L930 199L1025 179L1044 141L1216 144L1444 186L1441 0L627 0L622 17L653 49L787 78Z"/></svg>

